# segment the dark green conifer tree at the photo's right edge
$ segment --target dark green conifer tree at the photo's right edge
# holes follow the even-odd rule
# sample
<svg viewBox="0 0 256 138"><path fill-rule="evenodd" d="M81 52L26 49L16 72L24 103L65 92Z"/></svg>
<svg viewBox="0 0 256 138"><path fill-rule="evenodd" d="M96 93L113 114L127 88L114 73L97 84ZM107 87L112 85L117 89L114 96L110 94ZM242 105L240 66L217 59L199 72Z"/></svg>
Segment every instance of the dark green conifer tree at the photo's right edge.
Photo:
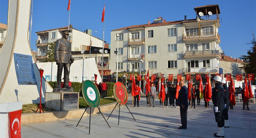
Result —
<svg viewBox="0 0 256 138"><path fill-rule="evenodd" d="M256 39L254 33L252 33L253 39L251 43L252 47L250 50L247 50L247 55L242 55L240 58L244 60L244 64L241 69L244 69L246 73L255 73L256 72Z"/></svg>

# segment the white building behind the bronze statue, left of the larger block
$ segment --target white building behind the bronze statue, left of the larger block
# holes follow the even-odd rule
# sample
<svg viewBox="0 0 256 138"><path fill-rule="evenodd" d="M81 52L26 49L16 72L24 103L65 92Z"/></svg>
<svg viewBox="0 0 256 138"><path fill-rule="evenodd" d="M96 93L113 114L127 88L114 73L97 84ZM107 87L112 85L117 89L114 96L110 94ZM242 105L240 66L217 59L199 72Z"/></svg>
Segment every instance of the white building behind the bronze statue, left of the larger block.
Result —
<svg viewBox="0 0 256 138"><path fill-rule="evenodd" d="M63 30L68 30L68 26L36 32L36 34L37 34L37 40L36 40L37 62L43 62L44 59L47 58L46 53L48 50L48 43L52 43L52 42L56 41L57 39L62 38L61 31L63 31ZM92 30L87 29L86 31L82 32L82 31L76 30L75 28L72 27L72 25L70 25L70 31L71 31L71 33L70 33L70 35L69 35L70 37L68 39L71 42L71 51L83 51L84 50L84 51L89 52L88 47L90 46L90 40L91 40L91 46L102 48L103 41L99 38L91 36L90 34L93 34ZM89 54L88 52L86 52L86 56ZM88 57L89 57L89 55L88 55ZM75 59L84 59L83 56L75 56L74 58Z"/></svg>

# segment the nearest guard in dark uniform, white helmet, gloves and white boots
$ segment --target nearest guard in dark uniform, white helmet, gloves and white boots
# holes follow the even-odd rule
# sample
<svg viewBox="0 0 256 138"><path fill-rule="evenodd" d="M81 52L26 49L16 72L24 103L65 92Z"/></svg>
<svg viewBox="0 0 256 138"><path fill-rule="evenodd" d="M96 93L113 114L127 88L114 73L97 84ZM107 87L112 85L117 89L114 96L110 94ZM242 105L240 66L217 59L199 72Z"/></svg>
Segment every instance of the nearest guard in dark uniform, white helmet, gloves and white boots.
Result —
<svg viewBox="0 0 256 138"><path fill-rule="evenodd" d="M224 108L224 88L220 84L221 77L215 76L213 78L213 82L215 83L215 87L212 90L212 102L214 105L214 115L215 121L218 124L219 131L214 133L215 137L224 137L224 117L222 114Z"/></svg>

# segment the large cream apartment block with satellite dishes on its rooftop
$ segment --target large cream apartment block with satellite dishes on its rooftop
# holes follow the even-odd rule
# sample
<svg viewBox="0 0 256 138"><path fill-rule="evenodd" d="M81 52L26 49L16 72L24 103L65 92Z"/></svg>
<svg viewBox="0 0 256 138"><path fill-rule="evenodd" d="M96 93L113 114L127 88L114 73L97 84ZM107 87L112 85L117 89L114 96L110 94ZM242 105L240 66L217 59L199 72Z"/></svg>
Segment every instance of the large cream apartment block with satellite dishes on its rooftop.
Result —
<svg viewBox="0 0 256 138"><path fill-rule="evenodd" d="M114 49L118 39L118 72L138 72L140 69L146 72L149 69L149 74L153 71L153 74L161 72L167 76L219 73L219 5L200 6L194 10L195 19L185 16L184 20L166 22L159 17L151 24L112 30L110 70L116 72ZM143 62L140 63L140 59Z"/></svg>

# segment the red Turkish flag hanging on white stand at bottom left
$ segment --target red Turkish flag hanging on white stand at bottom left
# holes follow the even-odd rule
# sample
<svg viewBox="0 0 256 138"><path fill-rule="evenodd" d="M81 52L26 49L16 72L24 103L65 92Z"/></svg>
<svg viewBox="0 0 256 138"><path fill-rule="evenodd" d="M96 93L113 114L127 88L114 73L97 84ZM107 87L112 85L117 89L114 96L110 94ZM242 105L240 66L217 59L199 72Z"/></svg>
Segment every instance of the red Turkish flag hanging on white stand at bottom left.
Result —
<svg viewBox="0 0 256 138"><path fill-rule="evenodd" d="M21 128L21 110L10 112L10 131L9 135L11 138L21 138L20 128Z"/></svg>

